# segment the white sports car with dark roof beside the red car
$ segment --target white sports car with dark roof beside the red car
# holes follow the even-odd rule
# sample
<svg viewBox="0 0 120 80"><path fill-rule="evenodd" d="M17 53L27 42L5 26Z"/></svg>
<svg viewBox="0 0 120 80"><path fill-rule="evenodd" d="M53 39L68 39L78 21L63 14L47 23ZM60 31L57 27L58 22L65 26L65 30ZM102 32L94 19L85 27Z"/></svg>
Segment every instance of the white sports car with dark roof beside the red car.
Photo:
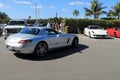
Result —
<svg viewBox="0 0 120 80"><path fill-rule="evenodd" d="M107 31L98 25L89 25L84 29L84 35L90 38L106 38L108 37Z"/></svg>

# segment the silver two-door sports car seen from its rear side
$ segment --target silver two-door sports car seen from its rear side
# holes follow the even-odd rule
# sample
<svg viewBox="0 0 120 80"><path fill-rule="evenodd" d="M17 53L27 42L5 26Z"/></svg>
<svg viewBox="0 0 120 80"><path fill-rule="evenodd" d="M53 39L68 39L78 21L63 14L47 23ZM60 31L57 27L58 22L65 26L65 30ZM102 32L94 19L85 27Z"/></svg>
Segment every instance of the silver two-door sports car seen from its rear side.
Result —
<svg viewBox="0 0 120 80"><path fill-rule="evenodd" d="M59 33L46 27L28 27L9 36L5 40L5 46L8 50L16 53L35 53L41 57L51 49L65 46L76 47L78 41L75 34Z"/></svg>

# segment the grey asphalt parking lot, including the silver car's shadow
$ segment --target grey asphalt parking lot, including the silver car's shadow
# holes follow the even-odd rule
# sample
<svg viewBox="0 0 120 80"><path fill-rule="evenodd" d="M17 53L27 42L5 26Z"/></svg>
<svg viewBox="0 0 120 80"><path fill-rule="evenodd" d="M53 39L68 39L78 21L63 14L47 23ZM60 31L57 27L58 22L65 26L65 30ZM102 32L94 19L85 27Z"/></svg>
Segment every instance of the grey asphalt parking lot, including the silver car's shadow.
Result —
<svg viewBox="0 0 120 80"><path fill-rule="evenodd" d="M44 58L16 54L0 37L0 80L120 80L120 39L79 36L79 46Z"/></svg>

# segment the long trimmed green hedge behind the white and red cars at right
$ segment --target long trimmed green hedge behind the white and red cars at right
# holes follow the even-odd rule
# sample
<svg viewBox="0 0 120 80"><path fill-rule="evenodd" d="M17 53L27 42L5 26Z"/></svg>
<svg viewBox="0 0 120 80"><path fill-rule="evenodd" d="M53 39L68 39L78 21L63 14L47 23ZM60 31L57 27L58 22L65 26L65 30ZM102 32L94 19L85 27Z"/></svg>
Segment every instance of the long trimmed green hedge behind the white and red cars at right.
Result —
<svg viewBox="0 0 120 80"><path fill-rule="evenodd" d="M68 33L81 33L88 25L99 25L103 28L120 27L120 20L93 20L93 19L63 19L64 25L68 27Z"/></svg>

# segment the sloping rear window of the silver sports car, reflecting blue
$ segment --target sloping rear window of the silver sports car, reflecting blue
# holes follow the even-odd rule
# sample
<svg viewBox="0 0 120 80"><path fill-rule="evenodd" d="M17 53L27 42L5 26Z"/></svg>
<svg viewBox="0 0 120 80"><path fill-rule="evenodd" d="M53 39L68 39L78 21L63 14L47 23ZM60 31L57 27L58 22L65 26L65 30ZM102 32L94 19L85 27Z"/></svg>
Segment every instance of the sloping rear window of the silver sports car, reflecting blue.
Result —
<svg viewBox="0 0 120 80"><path fill-rule="evenodd" d="M20 33L37 35L39 31L40 30L37 28L24 28L20 31Z"/></svg>

